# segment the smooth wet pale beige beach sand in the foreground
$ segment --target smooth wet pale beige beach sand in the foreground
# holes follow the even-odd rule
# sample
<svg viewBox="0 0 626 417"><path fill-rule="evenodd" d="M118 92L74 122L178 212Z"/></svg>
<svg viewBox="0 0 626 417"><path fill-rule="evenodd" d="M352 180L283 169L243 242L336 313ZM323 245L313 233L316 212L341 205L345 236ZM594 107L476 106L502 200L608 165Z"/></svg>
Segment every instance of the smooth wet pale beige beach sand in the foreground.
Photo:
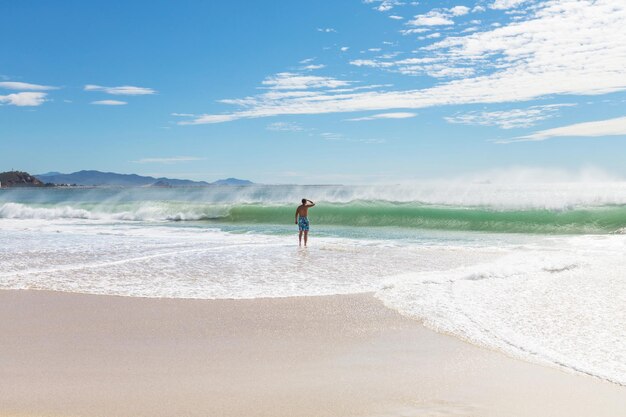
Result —
<svg viewBox="0 0 626 417"><path fill-rule="evenodd" d="M624 416L626 387L430 331L371 295L0 291L0 416Z"/></svg>

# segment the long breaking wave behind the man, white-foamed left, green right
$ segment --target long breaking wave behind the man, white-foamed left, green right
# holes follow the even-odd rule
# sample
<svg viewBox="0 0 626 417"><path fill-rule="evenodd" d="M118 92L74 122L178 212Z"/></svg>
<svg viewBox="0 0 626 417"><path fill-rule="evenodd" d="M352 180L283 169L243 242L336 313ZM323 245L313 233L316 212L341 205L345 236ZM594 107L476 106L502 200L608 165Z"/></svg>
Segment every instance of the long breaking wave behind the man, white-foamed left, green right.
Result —
<svg viewBox="0 0 626 417"><path fill-rule="evenodd" d="M108 205L36 206L4 203L0 218L86 219L111 221L206 221L226 224L291 224L292 205L216 205L189 202L141 202ZM566 210L502 210L432 206L417 203L354 201L319 204L312 221L324 226L395 227L451 231L532 234L623 233L626 206Z"/></svg>

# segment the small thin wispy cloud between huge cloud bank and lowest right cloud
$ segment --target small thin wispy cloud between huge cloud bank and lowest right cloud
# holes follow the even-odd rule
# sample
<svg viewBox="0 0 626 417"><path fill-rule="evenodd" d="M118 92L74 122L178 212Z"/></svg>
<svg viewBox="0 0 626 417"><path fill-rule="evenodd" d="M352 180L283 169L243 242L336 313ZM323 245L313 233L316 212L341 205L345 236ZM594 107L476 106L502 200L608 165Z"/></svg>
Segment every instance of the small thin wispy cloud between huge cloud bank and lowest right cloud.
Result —
<svg viewBox="0 0 626 417"><path fill-rule="evenodd" d="M500 111L468 112L444 117L449 123L466 125L498 126L502 129L513 129L534 126L541 120L550 119L558 114L559 108L574 104L549 104L532 106L526 109Z"/></svg>

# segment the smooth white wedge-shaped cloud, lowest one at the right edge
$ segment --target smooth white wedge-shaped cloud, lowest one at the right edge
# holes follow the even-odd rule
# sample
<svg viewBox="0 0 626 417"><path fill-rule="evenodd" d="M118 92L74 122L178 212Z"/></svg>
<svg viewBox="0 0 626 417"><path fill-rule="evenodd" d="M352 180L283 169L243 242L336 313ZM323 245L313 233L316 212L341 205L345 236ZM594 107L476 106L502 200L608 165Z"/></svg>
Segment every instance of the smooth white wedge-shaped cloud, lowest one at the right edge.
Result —
<svg viewBox="0 0 626 417"><path fill-rule="evenodd" d="M576 123L554 129L540 130L527 136L520 136L511 140L502 140L497 143L511 143L523 141L542 141L555 137L599 137L599 136L626 136L626 116L615 119L599 120L596 122Z"/></svg>

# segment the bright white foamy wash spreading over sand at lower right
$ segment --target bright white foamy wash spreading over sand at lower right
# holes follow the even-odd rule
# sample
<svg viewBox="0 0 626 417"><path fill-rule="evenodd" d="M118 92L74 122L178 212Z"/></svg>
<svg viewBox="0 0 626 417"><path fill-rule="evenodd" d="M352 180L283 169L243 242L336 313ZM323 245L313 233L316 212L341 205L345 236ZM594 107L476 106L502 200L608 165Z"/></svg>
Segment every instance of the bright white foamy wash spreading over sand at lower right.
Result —
<svg viewBox="0 0 626 417"><path fill-rule="evenodd" d="M626 239L546 239L495 261L397 276L377 293L441 332L626 385Z"/></svg>

